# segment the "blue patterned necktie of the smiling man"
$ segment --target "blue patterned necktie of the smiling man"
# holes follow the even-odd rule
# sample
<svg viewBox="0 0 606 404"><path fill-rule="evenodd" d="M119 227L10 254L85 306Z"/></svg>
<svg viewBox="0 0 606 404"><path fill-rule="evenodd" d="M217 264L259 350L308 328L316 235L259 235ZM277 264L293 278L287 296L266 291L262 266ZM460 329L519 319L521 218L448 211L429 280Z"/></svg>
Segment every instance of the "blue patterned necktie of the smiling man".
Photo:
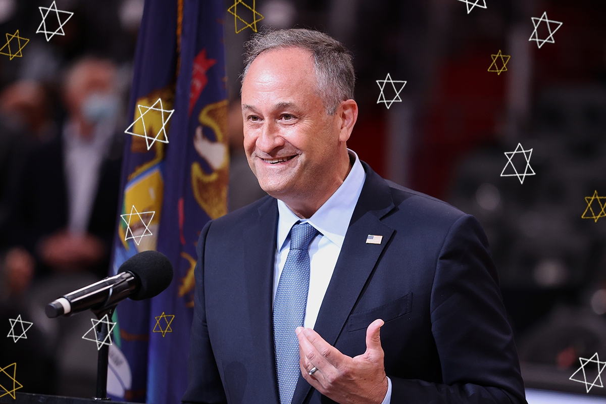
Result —
<svg viewBox="0 0 606 404"><path fill-rule="evenodd" d="M290 404L301 369L295 329L303 326L309 291L309 243L318 230L308 223L290 230L290 251L273 302L273 338L281 404Z"/></svg>

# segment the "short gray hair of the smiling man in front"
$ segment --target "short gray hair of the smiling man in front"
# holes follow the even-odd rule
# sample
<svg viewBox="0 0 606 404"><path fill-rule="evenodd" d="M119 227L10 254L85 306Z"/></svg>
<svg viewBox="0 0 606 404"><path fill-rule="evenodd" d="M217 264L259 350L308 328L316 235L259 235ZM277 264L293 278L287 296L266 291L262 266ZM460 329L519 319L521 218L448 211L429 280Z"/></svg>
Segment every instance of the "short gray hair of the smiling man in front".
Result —
<svg viewBox="0 0 606 404"><path fill-rule="evenodd" d="M356 77L353 57L347 49L325 33L303 28L265 31L246 42L246 67L242 82L252 62L264 51L279 48L302 48L313 54L318 95L328 114L333 115L342 101L353 99Z"/></svg>

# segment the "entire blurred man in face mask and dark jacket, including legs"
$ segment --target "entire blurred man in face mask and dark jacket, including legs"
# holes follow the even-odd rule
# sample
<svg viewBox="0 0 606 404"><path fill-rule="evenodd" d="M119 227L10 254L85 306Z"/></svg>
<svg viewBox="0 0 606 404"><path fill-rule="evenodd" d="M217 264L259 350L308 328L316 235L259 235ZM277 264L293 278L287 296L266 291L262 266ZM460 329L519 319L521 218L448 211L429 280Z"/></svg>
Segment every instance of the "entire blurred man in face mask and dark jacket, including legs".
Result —
<svg viewBox="0 0 606 404"><path fill-rule="evenodd" d="M18 299L26 293L36 324L51 331L58 392L82 396L95 388L95 345L81 339L90 320L48 320L44 306L107 276L123 136L116 131L115 64L98 58L75 62L61 95L67 114L60 134L28 153L9 196L4 276L8 294Z"/></svg>

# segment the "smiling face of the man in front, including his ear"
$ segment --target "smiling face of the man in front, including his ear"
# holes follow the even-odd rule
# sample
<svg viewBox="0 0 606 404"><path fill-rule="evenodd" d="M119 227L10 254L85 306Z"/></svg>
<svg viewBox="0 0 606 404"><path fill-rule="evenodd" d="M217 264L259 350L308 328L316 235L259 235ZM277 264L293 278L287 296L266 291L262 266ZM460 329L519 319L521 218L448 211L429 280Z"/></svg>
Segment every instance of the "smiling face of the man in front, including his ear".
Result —
<svg viewBox="0 0 606 404"><path fill-rule="evenodd" d="M242 83L244 148L268 194L309 217L350 169L347 141L358 110L345 101L329 115L316 91L313 55L300 48L261 53Z"/></svg>

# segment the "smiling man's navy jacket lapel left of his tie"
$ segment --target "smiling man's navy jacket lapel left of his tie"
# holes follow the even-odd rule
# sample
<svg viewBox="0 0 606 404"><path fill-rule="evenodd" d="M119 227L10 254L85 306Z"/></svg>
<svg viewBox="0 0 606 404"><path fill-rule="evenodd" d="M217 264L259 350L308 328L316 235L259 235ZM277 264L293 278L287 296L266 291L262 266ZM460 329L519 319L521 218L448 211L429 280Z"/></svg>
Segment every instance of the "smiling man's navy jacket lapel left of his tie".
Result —
<svg viewBox="0 0 606 404"><path fill-rule="evenodd" d="M245 271L247 281L247 306L250 316L250 333L255 344L259 363L255 371L265 373L268 396L279 403L278 378L273 348L272 296L276 237L278 229L278 204L276 199L267 198L259 207L259 216L244 231L244 265L255 263L258 268Z"/></svg>

